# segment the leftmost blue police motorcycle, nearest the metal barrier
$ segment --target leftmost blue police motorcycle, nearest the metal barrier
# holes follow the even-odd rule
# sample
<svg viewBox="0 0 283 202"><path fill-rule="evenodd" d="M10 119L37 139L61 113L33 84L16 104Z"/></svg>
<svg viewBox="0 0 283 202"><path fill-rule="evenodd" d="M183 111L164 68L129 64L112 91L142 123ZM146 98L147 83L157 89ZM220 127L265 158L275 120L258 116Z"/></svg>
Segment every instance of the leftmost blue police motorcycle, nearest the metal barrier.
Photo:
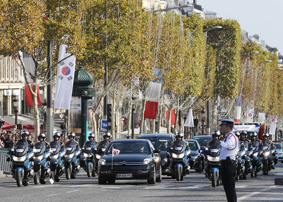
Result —
<svg viewBox="0 0 283 202"><path fill-rule="evenodd" d="M28 145L28 142L17 142L12 149L8 149L7 161L10 161L11 175L16 179L18 187L28 186L34 176L34 153Z"/></svg>

